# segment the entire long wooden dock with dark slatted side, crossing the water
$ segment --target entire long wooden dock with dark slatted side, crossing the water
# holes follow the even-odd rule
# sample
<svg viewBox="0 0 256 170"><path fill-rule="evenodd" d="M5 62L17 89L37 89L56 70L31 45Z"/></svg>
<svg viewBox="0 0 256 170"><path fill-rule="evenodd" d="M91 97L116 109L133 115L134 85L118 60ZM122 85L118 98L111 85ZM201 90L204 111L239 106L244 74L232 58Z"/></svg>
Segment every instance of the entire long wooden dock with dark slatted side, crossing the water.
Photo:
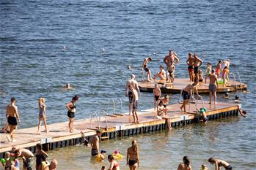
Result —
<svg viewBox="0 0 256 170"><path fill-rule="evenodd" d="M200 107L202 107L202 104L197 104L197 108L200 109ZM207 108L206 114L208 115L208 120L237 116L239 108L237 104L226 103L218 103L216 106L204 104L204 107ZM195 112L195 104L190 104L190 109L188 104L186 108L189 113L181 112L180 104L172 104L168 106L168 116L171 117L170 122L172 127L190 123L199 123L200 117L198 117ZM128 114L116 117L100 117L99 122L97 122L98 119L96 117L93 117L92 121L90 119L76 120L74 123L76 131L73 133L68 131L67 122L48 125L48 129L50 130L48 134L42 132L40 135L37 135L37 127L18 129L15 134L16 142L7 142L7 134L1 134L0 153L1 156L3 156L4 152L10 151L14 146L16 148L28 148L29 150L32 150L32 152L35 152L35 145L37 143L43 144L44 150L53 150L57 147L75 145L81 142L81 131L84 132L84 136L87 136L87 139L90 139L91 136L95 134L99 125L103 139L143 134L149 131L159 131L167 128L166 120L153 119L154 115L156 115L156 112L153 112L153 109L139 112L139 124L131 123L132 116L129 116ZM106 128L106 124L108 125L108 128Z"/></svg>

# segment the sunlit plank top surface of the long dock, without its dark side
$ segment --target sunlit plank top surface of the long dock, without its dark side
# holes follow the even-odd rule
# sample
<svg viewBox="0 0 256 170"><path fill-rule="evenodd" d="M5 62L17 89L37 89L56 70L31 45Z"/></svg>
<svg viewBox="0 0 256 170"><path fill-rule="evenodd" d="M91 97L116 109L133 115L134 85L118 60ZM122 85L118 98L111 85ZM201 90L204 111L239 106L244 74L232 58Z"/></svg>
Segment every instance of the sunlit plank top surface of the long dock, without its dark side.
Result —
<svg viewBox="0 0 256 170"><path fill-rule="evenodd" d="M202 107L202 104L197 104L198 109ZM216 106L205 104L204 107L208 110L206 115L214 115L220 112L228 112L231 110L237 110L238 105L236 104L226 104L226 103L218 103ZM186 116L189 120L194 119L196 111L195 104L190 105L190 112L184 113L180 111L180 104L172 104L168 107L167 115L171 117L170 122L178 122L180 121L180 117ZM189 104L186 106L189 111ZM139 113L139 124L131 123L133 121L132 115L129 116L128 113L124 113L123 116L117 117L107 117L108 129L106 128L106 119L105 117L100 117L100 122L97 122L97 119L92 118L92 123L90 123L89 119L76 120L74 123L76 131L73 133L69 132L68 122L62 123L54 123L48 125L48 129L50 132L46 134L45 132L41 132L40 135L37 135L37 127L32 128L24 128L18 129L15 134L16 142L7 142L7 134L1 134L0 138L0 152L6 152L11 150L13 146L17 148L21 147L34 147L35 144L40 143L41 140L45 141L45 139L50 139L51 142L61 142L68 139L77 139L81 138L81 131L84 132L85 136L92 136L95 134L95 130L98 129L98 125L100 125L100 130L108 132L118 131L121 128L125 129L133 129L133 128L142 128L153 125L161 125L165 123L165 120L157 120L153 119L153 116L156 115L153 109L146 109Z"/></svg>

